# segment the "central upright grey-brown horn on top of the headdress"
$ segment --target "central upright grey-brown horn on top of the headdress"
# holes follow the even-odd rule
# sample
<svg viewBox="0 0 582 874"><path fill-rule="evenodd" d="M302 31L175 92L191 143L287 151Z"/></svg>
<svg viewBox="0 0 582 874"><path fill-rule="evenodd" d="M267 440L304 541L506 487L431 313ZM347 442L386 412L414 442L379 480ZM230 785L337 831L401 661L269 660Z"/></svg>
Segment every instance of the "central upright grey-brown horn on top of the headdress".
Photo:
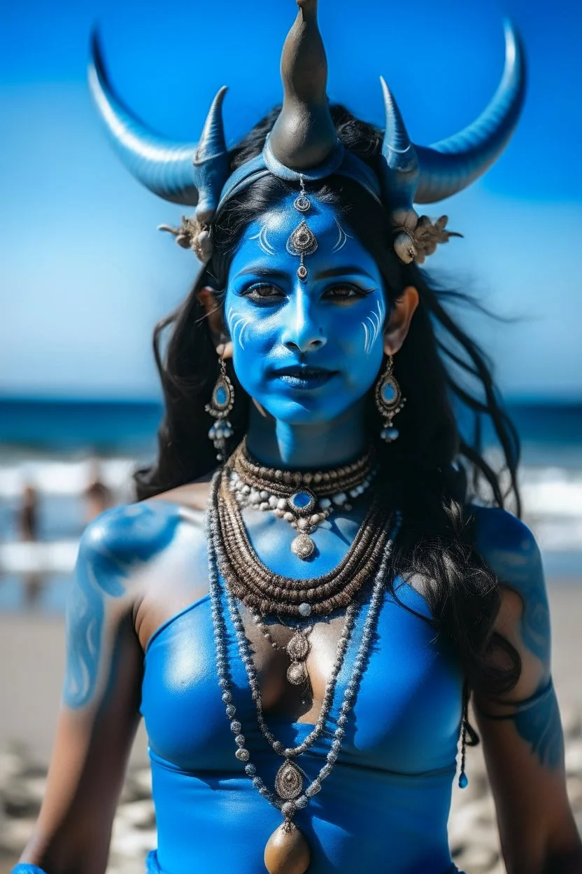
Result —
<svg viewBox="0 0 582 874"><path fill-rule="evenodd" d="M281 56L284 100L271 131L273 155L291 170L325 162L338 142L327 101L327 59L318 28L318 0L297 0L298 16Z"/></svg>

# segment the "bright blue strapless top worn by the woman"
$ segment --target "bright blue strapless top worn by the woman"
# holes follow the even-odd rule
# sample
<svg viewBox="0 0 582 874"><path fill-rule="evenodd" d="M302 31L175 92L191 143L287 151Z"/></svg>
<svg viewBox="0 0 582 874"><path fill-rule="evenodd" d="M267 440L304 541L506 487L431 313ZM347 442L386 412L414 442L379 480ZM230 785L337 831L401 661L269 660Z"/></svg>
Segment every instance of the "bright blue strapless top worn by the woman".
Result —
<svg viewBox="0 0 582 874"><path fill-rule="evenodd" d="M428 622L426 601L411 586L388 593L346 736L331 775L295 822L312 850L308 874L455 871L447 820L462 715L462 672ZM369 593L368 593L369 597ZM404 606L402 606L404 605ZM299 762L313 779L325 764L343 690L366 619L360 611L338 677L329 734ZM229 634L236 718L251 761L273 787L282 759L257 726L255 705L234 628ZM141 712L152 763L162 874L265 871L264 846L282 822L235 758L215 665L209 596L161 626L145 656ZM267 719L285 746L312 725Z"/></svg>

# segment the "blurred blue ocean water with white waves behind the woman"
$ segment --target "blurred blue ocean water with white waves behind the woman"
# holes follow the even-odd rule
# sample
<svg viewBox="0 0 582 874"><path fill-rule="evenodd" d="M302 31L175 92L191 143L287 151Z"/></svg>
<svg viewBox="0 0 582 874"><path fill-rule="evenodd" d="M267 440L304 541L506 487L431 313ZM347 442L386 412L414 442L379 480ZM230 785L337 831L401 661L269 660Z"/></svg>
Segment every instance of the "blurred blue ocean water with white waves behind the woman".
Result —
<svg viewBox="0 0 582 874"><path fill-rule="evenodd" d="M549 579L582 580L582 404L508 405L522 438L524 518ZM154 402L0 399L0 610L62 611L95 477L115 503L154 454ZM38 542L19 531L23 491L37 496Z"/></svg>

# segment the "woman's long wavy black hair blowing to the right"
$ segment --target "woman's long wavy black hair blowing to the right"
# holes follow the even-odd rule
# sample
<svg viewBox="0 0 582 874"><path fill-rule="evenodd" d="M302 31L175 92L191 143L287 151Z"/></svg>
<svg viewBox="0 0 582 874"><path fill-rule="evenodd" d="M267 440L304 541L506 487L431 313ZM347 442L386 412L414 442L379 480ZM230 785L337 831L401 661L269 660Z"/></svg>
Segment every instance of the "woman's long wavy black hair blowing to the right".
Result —
<svg viewBox="0 0 582 874"><path fill-rule="evenodd" d="M273 109L231 150L232 170L260 153L278 113L279 108ZM380 130L339 105L332 106L332 118L346 147L377 169ZM407 398L398 418L400 438L389 446L378 440L380 488L401 507L405 520L392 558L391 579L415 574L422 580L435 629L453 646L471 688L490 694L510 690L520 673L519 656L509 642L493 633L501 596L496 577L474 548L468 506L476 497L496 507L510 500L519 512L519 442L503 411L488 360L451 314L451 303L470 302L470 298L438 288L414 264L401 264L389 242L387 212L361 186L330 177L325 184L312 184L310 190L346 215L380 267L388 304L393 305L409 285L420 295L407 339L394 359L394 374ZM265 177L223 206L213 226L212 259L186 300L154 331L165 414L157 458L135 476L140 499L192 482L216 467L208 439L211 420L204 406L218 364L197 293L209 285L220 298L244 228L288 191L282 181ZM236 386L230 416L234 447L246 430L249 398L236 374L230 371L230 376ZM377 439L380 419L372 399L367 418L371 439ZM461 434L459 421L472 423L470 434ZM505 488L501 473L483 457L483 421L489 421L503 454ZM490 658L494 648L507 656L503 667L494 666Z"/></svg>

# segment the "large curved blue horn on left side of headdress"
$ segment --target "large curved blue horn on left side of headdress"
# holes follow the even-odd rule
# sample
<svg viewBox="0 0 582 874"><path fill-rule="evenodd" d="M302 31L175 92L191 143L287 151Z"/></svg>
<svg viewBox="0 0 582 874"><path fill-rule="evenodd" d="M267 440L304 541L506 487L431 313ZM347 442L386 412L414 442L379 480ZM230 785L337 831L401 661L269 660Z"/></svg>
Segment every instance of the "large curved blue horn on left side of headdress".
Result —
<svg viewBox="0 0 582 874"><path fill-rule="evenodd" d="M109 82L97 32L92 34L89 85L113 147L134 177L175 204L195 206L196 143L172 142L154 134L120 101Z"/></svg>

